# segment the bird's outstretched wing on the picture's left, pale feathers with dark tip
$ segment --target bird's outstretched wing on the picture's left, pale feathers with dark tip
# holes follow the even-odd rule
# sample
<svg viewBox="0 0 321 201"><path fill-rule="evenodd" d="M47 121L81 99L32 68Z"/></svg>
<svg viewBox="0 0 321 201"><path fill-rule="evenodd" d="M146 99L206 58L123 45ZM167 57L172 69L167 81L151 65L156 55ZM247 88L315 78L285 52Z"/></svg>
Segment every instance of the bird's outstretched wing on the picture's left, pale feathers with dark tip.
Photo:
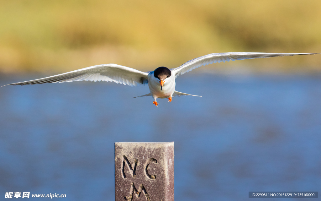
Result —
<svg viewBox="0 0 321 201"><path fill-rule="evenodd" d="M91 66L71 72L50 76L47 78L35 79L25 82L17 82L9 85L34 85L55 82L73 81L107 81L124 85L136 86L148 83L148 73L136 69L120 66L117 64L102 64ZM6 85L5 85L6 86Z"/></svg>

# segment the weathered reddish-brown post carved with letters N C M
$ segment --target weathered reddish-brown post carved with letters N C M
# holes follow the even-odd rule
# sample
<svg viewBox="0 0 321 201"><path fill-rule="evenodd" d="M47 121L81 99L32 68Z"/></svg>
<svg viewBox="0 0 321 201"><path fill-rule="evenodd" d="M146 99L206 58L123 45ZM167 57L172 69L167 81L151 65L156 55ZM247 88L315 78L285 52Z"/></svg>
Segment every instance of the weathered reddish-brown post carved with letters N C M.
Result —
<svg viewBox="0 0 321 201"><path fill-rule="evenodd" d="M115 143L115 201L174 201L174 142Z"/></svg>

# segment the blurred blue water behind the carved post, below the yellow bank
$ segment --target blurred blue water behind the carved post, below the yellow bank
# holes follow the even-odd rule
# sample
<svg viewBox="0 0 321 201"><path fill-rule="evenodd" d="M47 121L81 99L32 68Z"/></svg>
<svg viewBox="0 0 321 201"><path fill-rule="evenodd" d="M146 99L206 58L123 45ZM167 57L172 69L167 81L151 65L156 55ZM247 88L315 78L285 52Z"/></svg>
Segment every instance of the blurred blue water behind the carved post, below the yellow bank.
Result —
<svg viewBox="0 0 321 201"><path fill-rule="evenodd" d="M41 77L1 75L0 85ZM178 201L321 191L321 76L190 73L176 86L203 97L155 107L131 98L147 86L1 87L0 200L16 191L114 200L114 142L174 141Z"/></svg>

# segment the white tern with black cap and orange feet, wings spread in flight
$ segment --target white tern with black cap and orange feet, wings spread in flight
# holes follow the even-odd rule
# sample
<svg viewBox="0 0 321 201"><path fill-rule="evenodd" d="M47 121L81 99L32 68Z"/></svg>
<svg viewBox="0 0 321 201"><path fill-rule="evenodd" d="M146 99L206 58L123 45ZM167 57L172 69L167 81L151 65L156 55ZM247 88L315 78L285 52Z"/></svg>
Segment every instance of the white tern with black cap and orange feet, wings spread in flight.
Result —
<svg viewBox="0 0 321 201"><path fill-rule="evenodd" d="M124 85L136 86L137 84L148 84L150 93L142 96L152 96L153 104L158 105L157 98L168 98L172 101L173 96L196 96L175 91L175 79L178 75L205 66L212 63L220 63L225 61L235 61L243 59L267 58L267 57L283 57L308 55L319 53L257 53L257 52L227 52L213 53L196 59L192 59L184 63L178 68L168 69L159 67L154 71L142 72L136 69L120 66L117 64L102 64L91 66L71 72L50 76L47 78L35 79L25 82L17 82L9 85L33 85L42 83L56 82L73 82L73 81L110 81ZM6 86L6 85L5 85ZM137 97L142 97L137 96ZM134 97L136 98L136 97Z"/></svg>

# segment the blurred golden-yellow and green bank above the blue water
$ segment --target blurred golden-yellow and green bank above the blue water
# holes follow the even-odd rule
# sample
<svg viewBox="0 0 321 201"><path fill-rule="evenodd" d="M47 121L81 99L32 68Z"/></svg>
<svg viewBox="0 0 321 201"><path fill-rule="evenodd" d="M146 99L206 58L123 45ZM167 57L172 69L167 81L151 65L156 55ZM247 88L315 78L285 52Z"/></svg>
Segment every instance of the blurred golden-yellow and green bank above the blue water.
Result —
<svg viewBox="0 0 321 201"><path fill-rule="evenodd" d="M317 0L0 2L3 72L56 73L103 63L153 70L215 52L321 49ZM235 65L264 72L321 70L316 56L209 68Z"/></svg>

